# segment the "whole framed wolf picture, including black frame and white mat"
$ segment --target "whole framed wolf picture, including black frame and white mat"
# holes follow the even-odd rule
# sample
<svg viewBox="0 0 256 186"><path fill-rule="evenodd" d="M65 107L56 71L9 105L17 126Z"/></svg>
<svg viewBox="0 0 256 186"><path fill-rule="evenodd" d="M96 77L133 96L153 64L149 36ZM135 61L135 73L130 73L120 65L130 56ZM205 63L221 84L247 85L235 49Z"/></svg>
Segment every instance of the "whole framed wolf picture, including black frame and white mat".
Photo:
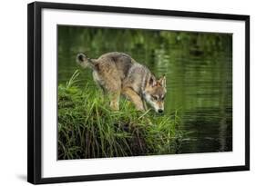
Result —
<svg viewBox="0 0 256 186"><path fill-rule="evenodd" d="M250 16L28 5L27 181L250 170Z"/></svg>

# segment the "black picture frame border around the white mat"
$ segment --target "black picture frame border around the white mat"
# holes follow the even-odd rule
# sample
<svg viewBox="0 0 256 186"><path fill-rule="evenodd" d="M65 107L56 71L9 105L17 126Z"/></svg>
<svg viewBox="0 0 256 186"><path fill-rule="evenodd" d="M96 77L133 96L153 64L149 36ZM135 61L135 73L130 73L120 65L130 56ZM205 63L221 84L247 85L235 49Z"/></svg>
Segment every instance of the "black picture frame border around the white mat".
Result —
<svg viewBox="0 0 256 186"><path fill-rule="evenodd" d="M138 15L165 15L209 19L240 20L245 22L245 164L240 166L210 167L175 171L144 171L42 178L42 74L41 34L42 9L61 9ZM27 6L27 181L34 184L69 181L99 181L180 174L250 170L250 16L199 12L142 9L100 5L75 5L35 2Z"/></svg>

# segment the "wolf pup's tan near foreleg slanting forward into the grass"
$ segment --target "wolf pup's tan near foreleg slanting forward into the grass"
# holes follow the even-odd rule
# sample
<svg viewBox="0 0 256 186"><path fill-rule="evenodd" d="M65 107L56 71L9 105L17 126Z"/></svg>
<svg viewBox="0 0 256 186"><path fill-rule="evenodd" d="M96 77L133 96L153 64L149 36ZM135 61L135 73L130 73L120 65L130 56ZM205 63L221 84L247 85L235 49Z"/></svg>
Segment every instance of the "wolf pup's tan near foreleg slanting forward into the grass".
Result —
<svg viewBox="0 0 256 186"><path fill-rule="evenodd" d="M135 107L138 111L144 111L144 106L142 100L138 93L133 91L131 88L124 88L122 93L128 97L128 99L135 104Z"/></svg>

